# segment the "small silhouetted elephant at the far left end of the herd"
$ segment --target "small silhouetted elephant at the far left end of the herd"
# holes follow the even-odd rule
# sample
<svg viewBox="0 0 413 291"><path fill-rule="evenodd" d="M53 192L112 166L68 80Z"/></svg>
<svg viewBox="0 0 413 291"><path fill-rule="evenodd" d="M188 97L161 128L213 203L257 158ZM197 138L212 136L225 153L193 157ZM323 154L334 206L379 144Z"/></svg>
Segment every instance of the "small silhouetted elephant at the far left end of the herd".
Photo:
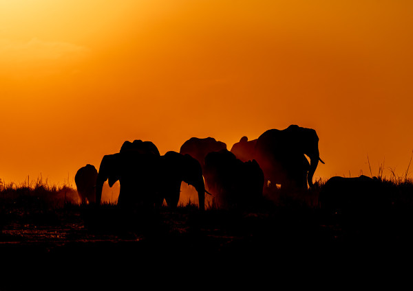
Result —
<svg viewBox="0 0 413 291"><path fill-rule="evenodd" d="M74 183L78 191L81 203L92 203L96 201L96 179L98 170L94 165L85 165L81 167L74 176Z"/></svg>

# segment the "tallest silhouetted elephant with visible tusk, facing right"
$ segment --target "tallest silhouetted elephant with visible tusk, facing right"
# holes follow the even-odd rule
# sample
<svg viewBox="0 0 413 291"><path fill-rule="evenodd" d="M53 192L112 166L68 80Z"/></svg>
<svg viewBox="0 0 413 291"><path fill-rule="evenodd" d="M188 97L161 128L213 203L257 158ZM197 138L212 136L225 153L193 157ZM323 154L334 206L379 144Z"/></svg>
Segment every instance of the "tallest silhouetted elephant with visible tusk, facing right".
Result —
<svg viewBox="0 0 413 291"><path fill-rule="evenodd" d="M291 125L284 130L271 129L258 137L253 157L266 181L307 189L307 181L313 187L313 176L321 161L318 143L317 133L311 128Z"/></svg>

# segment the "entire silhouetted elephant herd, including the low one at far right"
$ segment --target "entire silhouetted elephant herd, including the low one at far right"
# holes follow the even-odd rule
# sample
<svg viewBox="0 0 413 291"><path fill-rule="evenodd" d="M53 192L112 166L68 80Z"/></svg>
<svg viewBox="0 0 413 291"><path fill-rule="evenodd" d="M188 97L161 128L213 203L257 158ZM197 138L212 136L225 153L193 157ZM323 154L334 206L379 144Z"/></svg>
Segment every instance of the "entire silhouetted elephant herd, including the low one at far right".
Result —
<svg viewBox="0 0 413 291"><path fill-rule="evenodd" d="M177 207L181 183L195 187L199 208L205 194L213 195L220 207L254 205L264 190L313 188L320 159L315 130L297 125L284 130L266 130L257 139L242 137L228 150L212 137L192 137L163 156L151 141L125 141L120 151L103 156L97 171L93 165L78 170L75 183L83 203L100 204L103 183L120 183L121 207ZM370 181L371 180L371 181ZM374 179L332 177L319 196L321 205L334 208L348 204L351 191L361 196L374 192ZM370 199L370 198L369 198ZM369 200L367 199L367 200ZM374 197L373 197L374 199ZM350 203L351 204L351 203Z"/></svg>

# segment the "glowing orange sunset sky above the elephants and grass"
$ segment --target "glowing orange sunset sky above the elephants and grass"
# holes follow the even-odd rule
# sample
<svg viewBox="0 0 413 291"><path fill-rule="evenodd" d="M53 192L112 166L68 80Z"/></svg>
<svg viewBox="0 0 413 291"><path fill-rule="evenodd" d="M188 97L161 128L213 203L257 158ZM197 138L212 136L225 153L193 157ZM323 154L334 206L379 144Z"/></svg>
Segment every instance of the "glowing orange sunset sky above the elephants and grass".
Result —
<svg viewBox="0 0 413 291"><path fill-rule="evenodd" d="M317 130L315 177L370 174L367 157L402 175L412 15L409 0L0 0L0 178L73 183L125 140L231 148L290 124Z"/></svg>

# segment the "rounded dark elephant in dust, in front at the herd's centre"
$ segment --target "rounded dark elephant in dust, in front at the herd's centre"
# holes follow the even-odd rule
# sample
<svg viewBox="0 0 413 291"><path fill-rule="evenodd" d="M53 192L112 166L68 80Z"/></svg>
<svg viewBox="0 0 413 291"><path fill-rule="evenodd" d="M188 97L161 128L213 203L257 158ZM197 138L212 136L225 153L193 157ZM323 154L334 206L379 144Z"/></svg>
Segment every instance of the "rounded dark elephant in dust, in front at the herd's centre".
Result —
<svg viewBox="0 0 413 291"><path fill-rule="evenodd" d="M264 173L258 163L242 162L229 150L207 154L204 178L220 207L246 207L262 197Z"/></svg>

